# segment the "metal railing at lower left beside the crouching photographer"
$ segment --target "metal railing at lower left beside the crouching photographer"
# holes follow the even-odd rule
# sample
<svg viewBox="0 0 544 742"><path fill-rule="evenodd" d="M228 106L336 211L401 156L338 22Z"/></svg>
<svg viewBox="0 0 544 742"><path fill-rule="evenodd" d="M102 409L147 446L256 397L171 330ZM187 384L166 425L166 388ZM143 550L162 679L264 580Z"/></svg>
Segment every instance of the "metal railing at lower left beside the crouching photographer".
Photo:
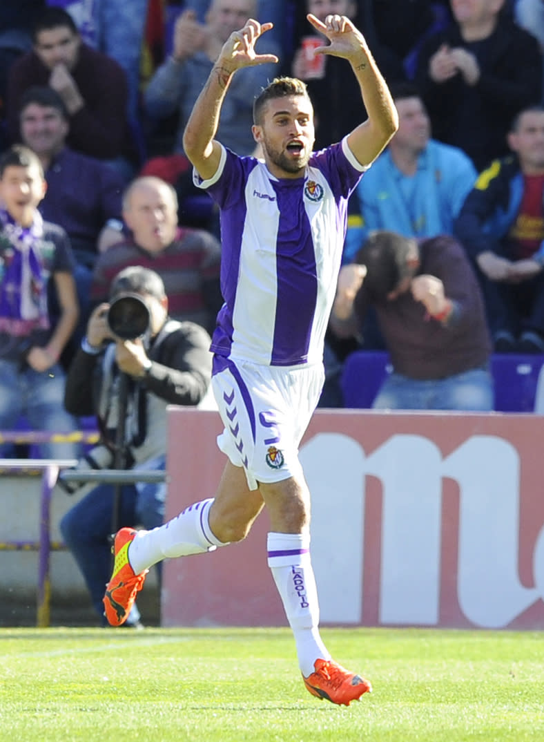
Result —
<svg viewBox="0 0 544 742"><path fill-rule="evenodd" d="M76 430L71 433L44 433L43 431L21 432L9 430L0 433L0 443L96 443L99 433ZM50 536L51 496L53 488L62 476L65 482L96 482L108 484L134 484L136 482L165 482L166 471L140 471L121 469L72 470L76 459L0 459L0 475L41 476L39 539L0 541L0 551L37 551L38 581L36 585L36 626L50 625L50 554L63 551L63 542L53 541Z"/></svg>

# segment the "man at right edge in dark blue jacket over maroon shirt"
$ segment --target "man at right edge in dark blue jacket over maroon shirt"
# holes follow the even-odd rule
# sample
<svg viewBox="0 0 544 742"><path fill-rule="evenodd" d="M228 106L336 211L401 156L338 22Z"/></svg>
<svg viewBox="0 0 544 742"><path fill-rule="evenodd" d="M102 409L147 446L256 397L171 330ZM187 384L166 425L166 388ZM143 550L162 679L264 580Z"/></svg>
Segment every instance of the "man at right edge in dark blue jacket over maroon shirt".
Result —
<svg viewBox="0 0 544 742"><path fill-rule="evenodd" d="M511 125L512 154L468 194L455 234L482 283L497 352L544 352L544 107Z"/></svg>

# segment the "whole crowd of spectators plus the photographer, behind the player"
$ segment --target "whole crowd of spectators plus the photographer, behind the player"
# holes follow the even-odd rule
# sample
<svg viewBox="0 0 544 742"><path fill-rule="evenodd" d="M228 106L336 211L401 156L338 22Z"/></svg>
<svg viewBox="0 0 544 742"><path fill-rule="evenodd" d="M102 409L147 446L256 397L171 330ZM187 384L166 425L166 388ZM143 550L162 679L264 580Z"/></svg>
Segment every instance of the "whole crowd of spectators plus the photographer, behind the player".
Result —
<svg viewBox="0 0 544 742"><path fill-rule="evenodd" d="M349 203L320 406L342 407L354 349L391 358L374 408L411 410L493 410L491 353L544 354L542 0L2 0L0 427L101 432L39 456L164 469L167 404L207 401L221 236L182 134L249 17L273 22L257 49L279 62L236 74L223 144L259 157L253 99L278 75L308 86L316 149L364 120L307 13L354 21L399 114ZM112 329L125 295L141 334ZM165 490L87 485L62 519L101 623L111 524L160 525Z"/></svg>

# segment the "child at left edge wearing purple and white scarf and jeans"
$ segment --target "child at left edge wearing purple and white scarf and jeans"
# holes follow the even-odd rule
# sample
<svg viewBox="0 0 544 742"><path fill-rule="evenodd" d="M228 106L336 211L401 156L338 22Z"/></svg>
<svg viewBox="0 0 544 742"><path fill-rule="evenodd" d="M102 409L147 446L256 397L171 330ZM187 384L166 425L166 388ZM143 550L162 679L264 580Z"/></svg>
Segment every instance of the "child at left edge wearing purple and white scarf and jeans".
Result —
<svg viewBox="0 0 544 742"><path fill-rule="evenodd" d="M21 415L35 430L70 432L76 421L64 410L59 357L76 326L79 309L73 257L64 230L44 222L38 204L47 185L30 149L13 146L0 158L0 427ZM59 304L53 324L47 302L52 279ZM73 459L73 443L47 443L44 458Z"/></svg>

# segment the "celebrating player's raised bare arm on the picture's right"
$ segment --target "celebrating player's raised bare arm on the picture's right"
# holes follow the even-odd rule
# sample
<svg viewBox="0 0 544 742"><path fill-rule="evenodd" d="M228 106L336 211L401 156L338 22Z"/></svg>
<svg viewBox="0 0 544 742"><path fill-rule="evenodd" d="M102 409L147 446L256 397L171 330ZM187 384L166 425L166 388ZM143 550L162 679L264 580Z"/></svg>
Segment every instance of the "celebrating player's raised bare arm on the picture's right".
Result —
<svg viewBox="0 0 544 742"><path fill-rule="evenodd" d="M347 59L359 82L368 119L348 135L348 143L357 160L362 165L368 165L376 159L399 126L391 93L364 36L350 19L346 16L327 16L325 23L322 23L311 13L307 18L331 42L330 45L318 47L315 53Z"/></svg>

